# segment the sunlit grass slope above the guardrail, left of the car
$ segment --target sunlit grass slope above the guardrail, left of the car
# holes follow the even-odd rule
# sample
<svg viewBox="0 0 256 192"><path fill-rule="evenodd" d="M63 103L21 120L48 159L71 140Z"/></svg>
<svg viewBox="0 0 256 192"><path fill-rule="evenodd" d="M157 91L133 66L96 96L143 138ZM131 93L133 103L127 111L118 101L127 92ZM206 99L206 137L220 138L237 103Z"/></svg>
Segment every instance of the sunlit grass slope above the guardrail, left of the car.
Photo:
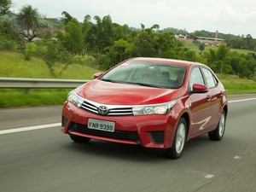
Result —
<svg viewBox="0 0 256 192"><path fill-rule="evenodd" d="M54 73L56 79L92 79L99 70L86 67L86 64L69 64L61 73L66 64L56 63ZM49 68L41 59L32 57L25 61L24 56L14 52L0 52L0 77L54 79L49 73Z"/></svg>

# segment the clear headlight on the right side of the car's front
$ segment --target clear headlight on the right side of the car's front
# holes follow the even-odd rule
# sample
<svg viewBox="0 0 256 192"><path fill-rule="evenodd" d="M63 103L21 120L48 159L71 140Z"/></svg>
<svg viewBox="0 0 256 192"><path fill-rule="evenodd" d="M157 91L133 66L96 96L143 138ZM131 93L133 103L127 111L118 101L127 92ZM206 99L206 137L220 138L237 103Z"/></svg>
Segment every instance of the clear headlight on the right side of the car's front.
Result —
<svg viewBox="0 0 256 192"><path fill-rule="evenodd" d="M176 101L166 102L157 105L144 105L132 108L133 115L145 115L145 114L166 114L168 113Z"/></svg>

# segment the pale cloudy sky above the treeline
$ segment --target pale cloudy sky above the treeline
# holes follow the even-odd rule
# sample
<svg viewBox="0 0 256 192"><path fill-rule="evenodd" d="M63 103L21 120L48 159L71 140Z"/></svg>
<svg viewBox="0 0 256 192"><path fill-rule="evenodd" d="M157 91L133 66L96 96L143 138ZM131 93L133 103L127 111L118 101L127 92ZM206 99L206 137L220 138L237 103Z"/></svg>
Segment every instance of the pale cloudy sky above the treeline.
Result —
<svg viewBox="0 0 256 192"><path fill-rule="evenodd" d="M60 18L62 11L81 22L85 15L90 15L92 22L95 15L110 15L114 23L137 28L158 24L160 29L218 31L256 38L255 0L12 0L11 10L18 13L25 5L49 18Z"/></svg>

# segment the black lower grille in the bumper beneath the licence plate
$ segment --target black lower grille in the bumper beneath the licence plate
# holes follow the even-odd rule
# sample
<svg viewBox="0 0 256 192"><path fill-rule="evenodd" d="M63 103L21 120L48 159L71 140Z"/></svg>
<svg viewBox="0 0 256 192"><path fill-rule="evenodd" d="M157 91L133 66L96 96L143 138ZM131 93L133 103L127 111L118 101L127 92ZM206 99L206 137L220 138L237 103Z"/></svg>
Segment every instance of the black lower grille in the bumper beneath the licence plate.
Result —
<svg viewBox="0 0 256 192"><path fill-rule="evenodd" d="M119 131L119 130L115 130L114 132L98 131L98 130L88 129L87 125L82 125L77 123L73 123L69 131L86 133L92 136L108 137L108 138L114 138L119 140L128 140L128 141L132 141L140 144L137 131Z"/></svg>

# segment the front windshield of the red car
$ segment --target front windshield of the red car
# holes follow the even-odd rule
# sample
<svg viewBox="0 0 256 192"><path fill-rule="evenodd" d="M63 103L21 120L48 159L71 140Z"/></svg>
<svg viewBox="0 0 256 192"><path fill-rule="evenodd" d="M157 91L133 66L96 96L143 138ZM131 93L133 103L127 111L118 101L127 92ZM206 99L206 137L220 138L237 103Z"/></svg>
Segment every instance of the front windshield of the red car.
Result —
<svg viewBox="0 0 256 192"><path fill-rule="evenodd" d="M139 84L166 89L183 85L187 67L149 61L126 61L100 79L115 83Z"/></svg>

